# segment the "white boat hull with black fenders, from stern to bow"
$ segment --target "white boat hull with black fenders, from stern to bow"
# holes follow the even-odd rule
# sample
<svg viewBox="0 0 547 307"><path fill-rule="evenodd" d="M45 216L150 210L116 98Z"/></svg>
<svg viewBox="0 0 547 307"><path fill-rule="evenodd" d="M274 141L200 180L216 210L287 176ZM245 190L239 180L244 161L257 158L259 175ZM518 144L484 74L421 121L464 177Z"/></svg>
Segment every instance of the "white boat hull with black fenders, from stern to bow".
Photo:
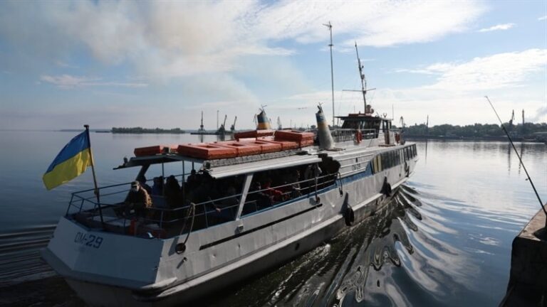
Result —
<svg viewBox="0 0 547 307"><path fill-rule="evenodd" d="M342 193L338 186L328 188L318 202L309 195L268 215L257 213L192 232L183 254L175 253L174 246L186 235L127 237L88 230L63 217L43 258L90 306L177 306L318 247L348 229L342 214L346 205L353 208L355 223L374 214L387 203L380 193L384 178L395 193L416 162L412 158L363 178L356 173L343 183ZM241 230L249 234L238 235ZM102 236L102 246L94 248L96 240L76 242L78 233Z"/></svg>

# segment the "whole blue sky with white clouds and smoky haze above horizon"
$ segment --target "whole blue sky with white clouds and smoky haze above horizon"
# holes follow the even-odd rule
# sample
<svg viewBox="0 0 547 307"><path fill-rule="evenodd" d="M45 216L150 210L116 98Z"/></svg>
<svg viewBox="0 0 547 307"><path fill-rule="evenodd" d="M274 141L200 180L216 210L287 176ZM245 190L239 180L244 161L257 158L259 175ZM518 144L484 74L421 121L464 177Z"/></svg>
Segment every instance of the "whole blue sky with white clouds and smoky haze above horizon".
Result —
<svg viewBox="0 0 547 307"><path fill-rule="evenodd" d="M0 129L547 122L547 1L0 1Z"/></svg>

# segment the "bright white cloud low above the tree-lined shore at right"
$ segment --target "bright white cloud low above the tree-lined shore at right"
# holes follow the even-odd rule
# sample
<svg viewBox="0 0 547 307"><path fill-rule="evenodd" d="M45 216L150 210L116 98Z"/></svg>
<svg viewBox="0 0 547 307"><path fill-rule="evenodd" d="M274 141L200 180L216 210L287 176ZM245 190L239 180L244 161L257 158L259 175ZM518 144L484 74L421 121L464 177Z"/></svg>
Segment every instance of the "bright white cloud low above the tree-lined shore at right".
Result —
<svg viewBox="0 0 547 307"><path fill-rule="evenodd" d="M544 91L533 90L529 84L532 77L547 74L547 50L530 49L514 53L499 53L483 58L473 58L457 63L434 63L420 69L401 69L397 72L413 72L434 77L429 85L382 88L370 92L368 103L377 112L387 112L395 106L395 119L401 115L408 124L425 122L425 117L436 120L437 124L473 124L496 122L484 95L490 95L500 114L511 114L511 109L525 109L531 114L527 121L546 122L547 107ZM545 77L541 79L543 89ZM530 86L532 90L516 90L516 87ZM292 95L281 101L281 107L289 111L295 107L313 107L324 102L323 109L328 118L331 115L330 91L307 92ZM335 92L336 114L347 114L363 110L363 99L358 92ZM355 108L355 109L354 109ZM534 113L535 112L535 113ZM291 114L293 119L297 116ZM491 115L491 116L490 116ZM303 114L301 118L306 118Z"/></svg>

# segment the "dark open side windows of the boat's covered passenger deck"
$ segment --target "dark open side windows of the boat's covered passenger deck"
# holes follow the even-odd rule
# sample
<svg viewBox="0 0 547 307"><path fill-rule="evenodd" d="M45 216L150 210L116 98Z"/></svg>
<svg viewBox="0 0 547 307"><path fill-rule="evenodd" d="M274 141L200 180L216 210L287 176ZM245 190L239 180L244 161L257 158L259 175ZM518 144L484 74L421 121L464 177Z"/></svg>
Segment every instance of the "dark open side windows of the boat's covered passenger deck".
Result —
<svg viewBox="0 0 547 307"><path fill-rule="evenodd" d="M317 190L335 183L338 168L339 165L332 161L325 161L254 173L241 216L277 208L301 196L313 195ZM198 196L195 199L197 205L192 231L235 220L242 197L243 179L242 176L209 179L207 188L200 185L188 191ZM165 216L167 223L164 225L176 227L187 218L183 212L184 209L174 216Z"/></svg>

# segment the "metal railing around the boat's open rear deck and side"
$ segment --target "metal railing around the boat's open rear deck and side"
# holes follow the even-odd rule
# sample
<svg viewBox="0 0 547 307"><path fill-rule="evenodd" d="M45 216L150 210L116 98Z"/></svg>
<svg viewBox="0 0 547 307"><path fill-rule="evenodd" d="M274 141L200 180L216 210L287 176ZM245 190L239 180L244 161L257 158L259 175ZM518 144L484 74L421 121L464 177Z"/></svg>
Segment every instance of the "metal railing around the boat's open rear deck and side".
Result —
<svg viewBox="0 0 547 307"><path fill-rule="evenodd" d="M319 190L335 184L335 180L336 174L328 174L261 190L252 190L246 196L241 216L277 208L292 203L303 196L317 195ZM177 203L175 208L160 208L152 203L151 208L142 208L142 213L139 215L136 210L126 210L124 200L129 188L130 183L99 188L104 223L100 222L99 204L93 189L73 193L66 215L90 228L103 228L106 231L127 235L165 238L235 220L239 210L239 200L242 196L241 193L238 193L194 204L184 198L185 195L182 195L180 203ZM281 195L274 195L272 193L274 190L281 191ZM259 195L268 195L269 202L261 201ZM158 200L162 199L163 203L167 204L165 196L151 195L151 197L156 200L157 204L161 202ZM190 210L191 208L193 210ZM192 230L187 229L189 220L193 220Z"/></svg>

